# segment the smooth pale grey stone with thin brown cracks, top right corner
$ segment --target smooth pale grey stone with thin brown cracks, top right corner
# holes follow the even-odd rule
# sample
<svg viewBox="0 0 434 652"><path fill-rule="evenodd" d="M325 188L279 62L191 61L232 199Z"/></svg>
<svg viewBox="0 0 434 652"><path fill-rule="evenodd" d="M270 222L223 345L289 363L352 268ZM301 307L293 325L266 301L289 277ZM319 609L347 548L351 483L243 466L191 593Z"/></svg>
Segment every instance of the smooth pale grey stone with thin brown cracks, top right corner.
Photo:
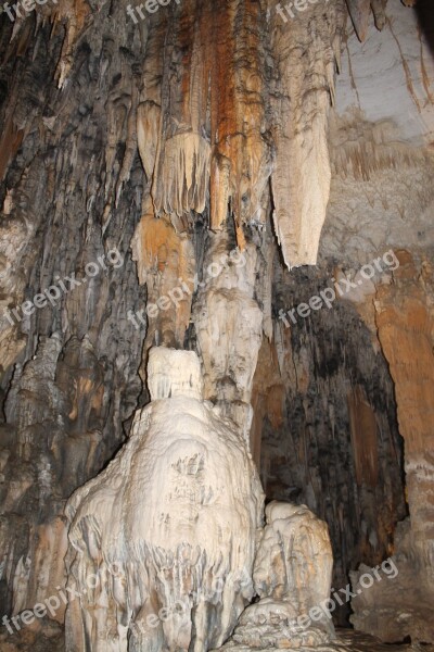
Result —
<svg viewBox="0 0 434 652"><path fill-rule="evenodd" d="M433 22L421 25L418 14L426 13L430 2L419 4L418 12L401 2L388 2L381 33L371 16L362 45L350 35L336 79L340 114L357 108L371 123L394 124L399 141L412 146L434 140Z"/></svg>

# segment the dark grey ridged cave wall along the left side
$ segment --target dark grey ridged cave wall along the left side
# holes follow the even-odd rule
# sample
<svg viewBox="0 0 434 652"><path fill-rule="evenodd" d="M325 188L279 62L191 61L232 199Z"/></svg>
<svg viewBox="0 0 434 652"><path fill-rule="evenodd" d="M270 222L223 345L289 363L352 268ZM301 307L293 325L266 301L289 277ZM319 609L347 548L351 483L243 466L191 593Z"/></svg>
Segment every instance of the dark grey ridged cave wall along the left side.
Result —
<svg viewBox="0 0 434 652"><path fill-rule="evenodd" d="M129 251L143 191L138 154L125 163L130 54L110 34L89 36L60 91L65 16L59 8L52 24L42 17L15 25L12 39L1 18L2 139L16 143L1 148L4 613L64 585L64 501L119 447L141 391L142 334L127 321L146 296ZM129 187L116 206L123 175ZM44 306L23 314L24 301L54 286Z"/></svg>

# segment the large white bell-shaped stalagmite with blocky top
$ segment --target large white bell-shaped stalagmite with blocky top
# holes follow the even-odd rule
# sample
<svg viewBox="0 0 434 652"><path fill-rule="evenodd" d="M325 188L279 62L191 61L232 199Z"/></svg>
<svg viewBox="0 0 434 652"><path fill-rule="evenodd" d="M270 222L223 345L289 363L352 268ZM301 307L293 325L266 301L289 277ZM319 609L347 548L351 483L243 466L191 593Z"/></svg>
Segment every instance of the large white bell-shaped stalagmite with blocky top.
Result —
<svg viewBox="0 0 434 652"><path fill-rule="evenodd" d="M264 496L243 437L194 352L152 349L148 372L128 443L66 507L68 652L216 648L253 597Z"/></svg>

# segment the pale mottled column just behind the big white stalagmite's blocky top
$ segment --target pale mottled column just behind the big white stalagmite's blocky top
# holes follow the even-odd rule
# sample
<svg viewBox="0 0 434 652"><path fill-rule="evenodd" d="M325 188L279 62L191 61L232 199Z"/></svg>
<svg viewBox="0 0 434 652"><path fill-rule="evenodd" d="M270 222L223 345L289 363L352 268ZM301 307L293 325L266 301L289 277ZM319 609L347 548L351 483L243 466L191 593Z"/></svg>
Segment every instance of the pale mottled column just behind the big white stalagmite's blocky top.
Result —
<svg viewBox="0 0 434 652"><path fill-rule="evenodd" d="M205 276L193 314L205 398L232 418L248 440L253 377L265 329L257 275L266 283L269 271L261 268L255 246L250 243L244 252L232 250L230 259L228 249L226 234L212 239L207 269L220 273Z"/></svg>

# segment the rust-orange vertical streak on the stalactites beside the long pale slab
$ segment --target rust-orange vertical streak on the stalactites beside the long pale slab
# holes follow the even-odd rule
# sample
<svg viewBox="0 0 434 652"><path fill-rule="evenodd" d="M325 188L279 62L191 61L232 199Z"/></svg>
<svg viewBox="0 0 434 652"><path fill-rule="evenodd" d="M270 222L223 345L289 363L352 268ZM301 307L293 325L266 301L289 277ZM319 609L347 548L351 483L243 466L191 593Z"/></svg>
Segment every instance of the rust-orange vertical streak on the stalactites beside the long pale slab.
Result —
<svg viewBox="0 0 434 652"><path fill-rule="evenodd" d="M237 239L243 248L242 224L258 205L265 174L260 74L260 5L238 0L225 11L212 9L209 35L212 167L212 228L219 228L231 201ZM213 205L214 203L214 205Z"/></svg>

